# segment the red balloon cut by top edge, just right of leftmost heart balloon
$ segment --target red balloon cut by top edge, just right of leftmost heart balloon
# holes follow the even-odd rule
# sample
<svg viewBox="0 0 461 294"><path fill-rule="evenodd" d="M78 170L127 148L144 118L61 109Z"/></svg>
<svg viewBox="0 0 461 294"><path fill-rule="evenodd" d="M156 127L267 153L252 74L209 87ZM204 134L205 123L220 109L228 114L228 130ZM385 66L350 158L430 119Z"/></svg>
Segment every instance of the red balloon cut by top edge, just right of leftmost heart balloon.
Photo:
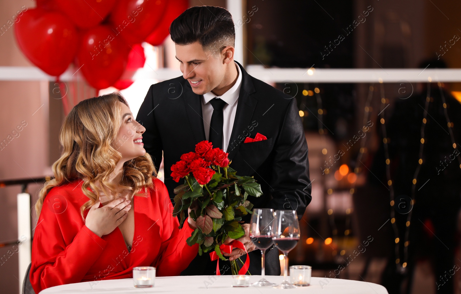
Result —
<svg viewBox="0 0 461 294"><path fill-rule="evenodd" d="M111 12L115 0L54 0L77 27L89 29L99 24Z"/></svg>

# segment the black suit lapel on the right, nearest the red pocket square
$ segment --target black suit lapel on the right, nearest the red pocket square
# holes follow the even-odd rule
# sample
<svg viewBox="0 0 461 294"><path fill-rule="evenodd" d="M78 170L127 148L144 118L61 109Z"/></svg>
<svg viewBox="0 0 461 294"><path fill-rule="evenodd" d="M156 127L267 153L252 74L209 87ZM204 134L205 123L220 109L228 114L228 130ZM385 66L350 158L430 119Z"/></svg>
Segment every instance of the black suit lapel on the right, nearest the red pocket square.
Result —
<svg viewBox="0 0 461 294"><path fill-rule="evenodd" d="M232 127L231 138L226 152L229 153L229 160L231 160L238 150L238 146L242 144L243 140L239 140L238 137L243 137L243 131L251 125L251 119L253 117L254 109L258 101L251 95L256 92L254 89L253 81L251 81L250 75L243 69L242 65L238 63L240 70L242 71L242 86L238 96L237 109L235 114L234 125ZM235 143L232 145L232 143ZM235 146L235 147L234 147Z"/></svg>

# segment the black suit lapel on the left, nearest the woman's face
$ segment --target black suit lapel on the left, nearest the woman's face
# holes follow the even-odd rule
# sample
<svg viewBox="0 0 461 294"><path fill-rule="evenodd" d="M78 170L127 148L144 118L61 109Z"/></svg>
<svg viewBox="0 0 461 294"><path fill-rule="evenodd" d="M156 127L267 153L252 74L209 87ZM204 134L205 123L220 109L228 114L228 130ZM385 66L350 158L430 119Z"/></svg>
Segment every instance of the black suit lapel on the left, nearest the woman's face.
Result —
<svg viewBox="0 0 461 294"><path fill-rule="evenodd" d="M186 108L187 117L189 118L190 127L195 137L195 144L206 140L205 129L203 127L203 115L201 109L201 97L192 91L189 83L183 84L184 89L184 107Z"/></svg>

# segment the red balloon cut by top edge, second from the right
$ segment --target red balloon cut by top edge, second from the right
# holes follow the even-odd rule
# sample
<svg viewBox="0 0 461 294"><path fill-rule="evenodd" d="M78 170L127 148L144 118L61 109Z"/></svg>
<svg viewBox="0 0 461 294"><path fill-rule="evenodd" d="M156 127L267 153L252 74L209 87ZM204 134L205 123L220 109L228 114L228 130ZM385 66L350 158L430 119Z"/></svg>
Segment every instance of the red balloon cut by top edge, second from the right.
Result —
<svg viewBox="0 0 461 294"><path fill-rule="evenodd" d="M166 0L120 0L111 22L129 44L141 43L160 23L165 9Z"/></svg>

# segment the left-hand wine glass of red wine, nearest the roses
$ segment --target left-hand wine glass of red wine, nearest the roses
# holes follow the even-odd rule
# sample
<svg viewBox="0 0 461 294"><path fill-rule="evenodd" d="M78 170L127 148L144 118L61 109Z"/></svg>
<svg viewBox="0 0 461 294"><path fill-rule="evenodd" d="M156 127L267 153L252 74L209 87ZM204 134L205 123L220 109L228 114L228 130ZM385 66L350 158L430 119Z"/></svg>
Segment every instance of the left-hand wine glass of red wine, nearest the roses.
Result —
<svg viewBox="0 0 461 294"><path fill-rule="evenodd" d="M256 287L275 286L264 278L264 261L266 250L272 245L272 226L274 224L274 210L271 208L254 208L250 222L250 238L254 245L261 250L261 279L253 283Z"/></svg>

